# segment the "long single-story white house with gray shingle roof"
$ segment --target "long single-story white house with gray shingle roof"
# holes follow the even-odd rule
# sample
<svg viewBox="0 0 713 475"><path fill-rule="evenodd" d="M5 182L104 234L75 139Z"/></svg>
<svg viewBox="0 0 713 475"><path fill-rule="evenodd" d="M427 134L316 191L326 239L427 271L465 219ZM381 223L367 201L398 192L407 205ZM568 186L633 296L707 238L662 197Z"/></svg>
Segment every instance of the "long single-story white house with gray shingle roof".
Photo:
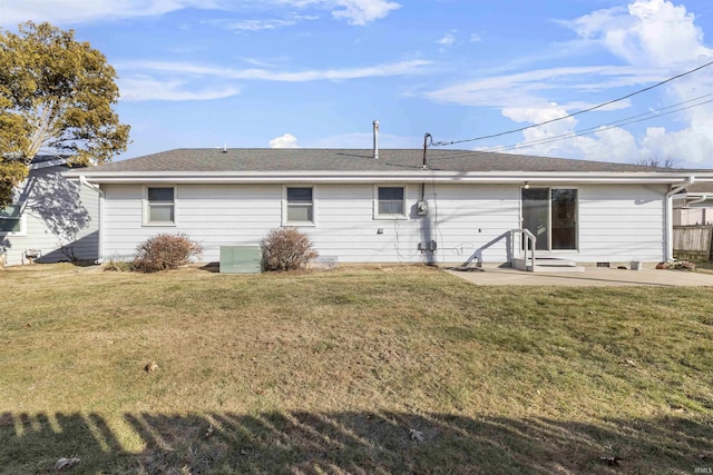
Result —
<svg viewBox="0 0 713 475"><path fill-rule="evenodd" d="M713 171L449 149L176 149L81 170L100 189L100 258L185 232L203 259L294 226L339 263L580 265L672 257L671 197Z"/></svg>

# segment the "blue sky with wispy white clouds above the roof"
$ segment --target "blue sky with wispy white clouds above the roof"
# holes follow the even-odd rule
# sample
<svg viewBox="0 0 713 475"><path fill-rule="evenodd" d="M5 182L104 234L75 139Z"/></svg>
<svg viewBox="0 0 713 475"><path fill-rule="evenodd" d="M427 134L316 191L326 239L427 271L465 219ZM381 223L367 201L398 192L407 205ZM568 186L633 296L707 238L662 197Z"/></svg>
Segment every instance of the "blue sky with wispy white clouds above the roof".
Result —
<svg viewBox="0 0 713 475"><path fill-rule="evenodd" d="M381 148L469 140L713 61L710 0L0 0L0 27L27 20L75 29L116 68L133 139L118 159L369 148L374 119ZM713 168L712 86L709 67L457 147Z"/></svg>

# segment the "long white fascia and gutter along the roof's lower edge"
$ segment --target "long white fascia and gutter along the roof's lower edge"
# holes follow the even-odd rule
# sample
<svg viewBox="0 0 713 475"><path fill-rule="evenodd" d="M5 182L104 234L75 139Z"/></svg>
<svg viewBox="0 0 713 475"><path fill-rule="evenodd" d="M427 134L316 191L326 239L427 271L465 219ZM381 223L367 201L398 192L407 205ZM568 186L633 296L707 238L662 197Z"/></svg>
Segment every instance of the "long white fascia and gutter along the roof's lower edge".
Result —
<svg viewBox="0 0 713 475"><path fill-rule="evenodd" d="M687 180L692 175L713 180L713 172L575 172L575 171L92 171L72 170L67 178L84 175L96 184L374 184L374 182L440 182L440 184L515 184L528 181L531 186L558 182L570 184L647 184L672 185Z"/></svg>

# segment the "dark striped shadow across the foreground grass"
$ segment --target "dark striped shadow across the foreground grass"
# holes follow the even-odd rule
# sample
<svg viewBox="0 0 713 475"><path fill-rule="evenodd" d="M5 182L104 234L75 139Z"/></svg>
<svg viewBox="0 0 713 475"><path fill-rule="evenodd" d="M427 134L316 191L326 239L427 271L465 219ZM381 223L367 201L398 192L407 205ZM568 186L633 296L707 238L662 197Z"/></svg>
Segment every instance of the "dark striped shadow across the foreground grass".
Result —
<svg viewBox="0 0 713 475"><path fill-rule="evenodd" d="M699 415L700 416L700 415ZM0 416L2 473L707 473L711 420L583 424L390 412L126 414L145 449L96 414ZM126 434L123 435L126 437Z"/></svg>

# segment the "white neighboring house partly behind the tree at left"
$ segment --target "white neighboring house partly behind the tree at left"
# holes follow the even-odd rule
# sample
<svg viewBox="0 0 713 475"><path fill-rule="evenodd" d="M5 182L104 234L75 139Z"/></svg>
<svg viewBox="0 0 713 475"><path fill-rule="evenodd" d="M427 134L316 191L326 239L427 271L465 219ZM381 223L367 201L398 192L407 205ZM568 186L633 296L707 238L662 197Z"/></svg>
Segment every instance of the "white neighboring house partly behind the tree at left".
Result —
<svg viewBox="0 0 713 475"><path fill-rule="evenodd" d="M0 210L0 255L8 265L33 260L96 260L99 250L99 195L62 176L67 157L41 155L28 178Z"/></svg>

